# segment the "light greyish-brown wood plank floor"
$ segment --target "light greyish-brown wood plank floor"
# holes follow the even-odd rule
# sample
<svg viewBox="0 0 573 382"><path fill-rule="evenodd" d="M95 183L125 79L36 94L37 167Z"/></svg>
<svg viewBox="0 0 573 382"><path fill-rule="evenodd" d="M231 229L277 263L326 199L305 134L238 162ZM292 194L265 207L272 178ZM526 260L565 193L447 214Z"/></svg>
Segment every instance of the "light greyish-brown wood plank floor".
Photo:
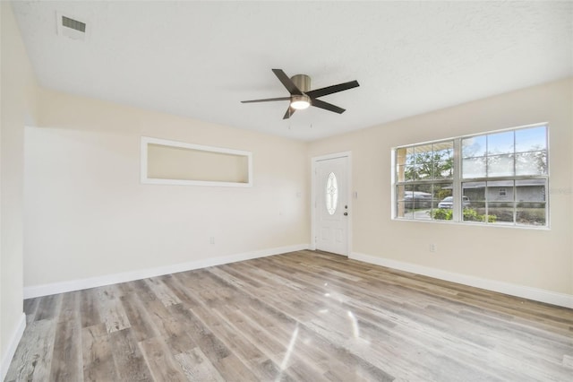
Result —
<svg viewBox="0 0 573 382"><path fill-rule="evenodd" d="M573 310L311 251L26 300L6 381L572 381Z"/></svg>

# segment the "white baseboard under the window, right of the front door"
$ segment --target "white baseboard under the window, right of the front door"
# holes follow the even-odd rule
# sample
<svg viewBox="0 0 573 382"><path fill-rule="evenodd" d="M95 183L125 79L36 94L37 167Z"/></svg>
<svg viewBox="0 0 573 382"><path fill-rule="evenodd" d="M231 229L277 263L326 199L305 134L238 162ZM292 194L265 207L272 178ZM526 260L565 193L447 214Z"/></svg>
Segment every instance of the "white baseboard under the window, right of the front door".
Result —
<svg viewBox="0 0 573 382"><path fill-rule="evenodd" d="M546 291L543 289L511 284L509 282L497 282L462 273L452 273L428 266L404 263L398 260L364 255L356 252L352 253L349 257L354 260L363 261L364 263L387 266L389 268L399 269L400 271L423 274L424 276L430 276L448 282L458 282L460 284L482 288L488 291L497 291L527 300L535 300L552 305L558 305L560 307L573 308L573 295L566 293Z"/></svg>

